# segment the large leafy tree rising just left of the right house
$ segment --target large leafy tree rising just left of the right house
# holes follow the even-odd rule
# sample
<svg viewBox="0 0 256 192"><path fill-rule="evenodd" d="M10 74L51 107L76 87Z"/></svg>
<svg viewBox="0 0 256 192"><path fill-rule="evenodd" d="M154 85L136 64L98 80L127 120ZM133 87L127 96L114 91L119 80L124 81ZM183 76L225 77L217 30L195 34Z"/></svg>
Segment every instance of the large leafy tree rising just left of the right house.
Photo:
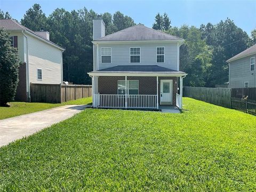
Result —
<svg viewBox="0 0 256 192"><path fill-rule="evenodd" d="M249 36L229 18L214 26L211 23L201 25L200 30L207 45L213 49L212 68L205 79L206 86L228 82L226 60L248 48Z"/></svg>

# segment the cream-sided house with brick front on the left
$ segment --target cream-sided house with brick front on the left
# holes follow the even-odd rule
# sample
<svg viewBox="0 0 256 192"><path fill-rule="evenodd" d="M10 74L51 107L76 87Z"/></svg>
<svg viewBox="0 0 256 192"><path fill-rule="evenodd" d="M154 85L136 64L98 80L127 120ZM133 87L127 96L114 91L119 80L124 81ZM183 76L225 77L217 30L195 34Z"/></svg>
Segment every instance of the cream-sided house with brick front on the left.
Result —
<svg viewBox="0 0 256 192"><path fill-rule="evenodd" d="M19 68L17 101L30 101L30 83L62 83L62 52L49 40L49 32L32 31L12 19L0 20L0 27L10 32L11 45L18 48Z"/></svg>

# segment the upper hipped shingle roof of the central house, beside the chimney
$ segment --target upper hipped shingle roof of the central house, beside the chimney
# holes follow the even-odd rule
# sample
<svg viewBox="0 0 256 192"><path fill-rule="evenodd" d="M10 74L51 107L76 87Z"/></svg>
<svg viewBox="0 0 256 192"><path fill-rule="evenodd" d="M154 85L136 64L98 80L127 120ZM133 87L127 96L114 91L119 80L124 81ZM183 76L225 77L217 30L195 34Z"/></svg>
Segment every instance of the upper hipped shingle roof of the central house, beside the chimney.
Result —
<svg viewBox="0 0 256 192"><path fill-rule="evenodd" d="M101 37L95 41L157 41L157 40L182 40L182 38L175 37L158 31L145 27L143 25L135 25L116 33Z"/></svg>

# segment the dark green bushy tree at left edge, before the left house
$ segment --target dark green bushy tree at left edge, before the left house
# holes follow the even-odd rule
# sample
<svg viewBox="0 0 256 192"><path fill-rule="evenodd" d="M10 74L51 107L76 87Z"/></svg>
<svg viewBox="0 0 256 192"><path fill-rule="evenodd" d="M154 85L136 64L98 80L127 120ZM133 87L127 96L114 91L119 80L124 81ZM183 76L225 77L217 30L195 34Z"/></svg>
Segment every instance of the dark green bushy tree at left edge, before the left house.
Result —
<svg viewBox="0 0 256 192"><path fill-rule="evenodd" d="M10 45L9 33L0 28L0 106L9 106L14 99L19 78L19 56Z"/></svg>

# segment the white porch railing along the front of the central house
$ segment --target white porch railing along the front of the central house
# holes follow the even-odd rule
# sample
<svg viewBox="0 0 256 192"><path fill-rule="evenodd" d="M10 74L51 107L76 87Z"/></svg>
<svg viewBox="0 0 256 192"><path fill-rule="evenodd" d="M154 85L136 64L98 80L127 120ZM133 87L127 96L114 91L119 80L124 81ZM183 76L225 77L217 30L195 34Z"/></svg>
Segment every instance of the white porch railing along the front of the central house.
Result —
<svg viewBox="0 0 256 192"><path fill-rule="evenodd" d="M127 103L125 104L125 100ZM94 94L94 107L99 108L157 108L157 95Z"/></svg>

